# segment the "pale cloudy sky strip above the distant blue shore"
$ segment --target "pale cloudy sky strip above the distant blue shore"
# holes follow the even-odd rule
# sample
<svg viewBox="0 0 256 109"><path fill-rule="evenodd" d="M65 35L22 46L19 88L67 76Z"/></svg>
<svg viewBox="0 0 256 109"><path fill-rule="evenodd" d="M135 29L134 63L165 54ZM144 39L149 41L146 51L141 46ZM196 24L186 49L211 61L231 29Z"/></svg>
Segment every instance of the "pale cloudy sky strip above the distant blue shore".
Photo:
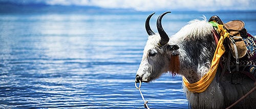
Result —
<svg viewBox="0 0 256 109"><path fill-rule="evenodd" d="M191 10L256 10L256 0L0 0L15 4L63 6L96 6L107 9L136 11Z"/></svg>

